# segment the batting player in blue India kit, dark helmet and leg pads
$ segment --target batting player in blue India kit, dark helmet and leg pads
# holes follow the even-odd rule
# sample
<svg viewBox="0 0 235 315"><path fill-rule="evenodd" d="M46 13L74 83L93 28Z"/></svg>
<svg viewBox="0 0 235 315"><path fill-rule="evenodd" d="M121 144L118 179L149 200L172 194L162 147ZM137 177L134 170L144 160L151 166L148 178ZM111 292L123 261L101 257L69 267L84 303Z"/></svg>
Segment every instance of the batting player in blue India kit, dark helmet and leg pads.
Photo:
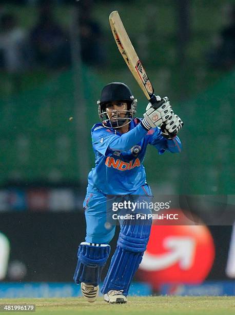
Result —
<svg viewBox="0 0 235 315"><path fill-rule="evenodd" d="M174 114L167 97L156 96L156 102L161 106L149 103L144 118L135 118L137 101L121 82L107 84L97 101L101 123L91 129L95 167L88 175L83 204L86 238L79 246L73 277L76 284L81 283L88 302L94 302L99 294L101 272L115 232L115 225L106 222L107 196L152 197L142 164L147 145L154 146L159 154L181 152L177 134L183 122ZM101 289L105 302L127 302L131 280L146 250L151 219L147 216L137 222L137 214L138 210L131 219L120 221L118 243Z"/></svg>

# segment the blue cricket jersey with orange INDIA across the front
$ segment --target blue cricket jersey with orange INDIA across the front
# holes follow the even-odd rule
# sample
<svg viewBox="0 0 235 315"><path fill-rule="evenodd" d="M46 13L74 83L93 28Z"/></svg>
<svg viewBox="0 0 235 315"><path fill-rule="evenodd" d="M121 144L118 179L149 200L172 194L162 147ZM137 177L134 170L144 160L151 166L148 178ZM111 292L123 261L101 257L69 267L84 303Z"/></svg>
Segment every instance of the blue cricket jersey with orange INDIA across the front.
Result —
<svg viewBox="0 0 235 315"><path fill-rule="evenodd" d="M92 147L95 154L95 167L88 175L88 188L104 195L127 195L146 184L143 166L147 145L154 146L159 154L165 151L181 151L178 137L168 140L156 127L149 131L134 118L129 131L121 134L115 129L96 124L91 129Z"/></svg>

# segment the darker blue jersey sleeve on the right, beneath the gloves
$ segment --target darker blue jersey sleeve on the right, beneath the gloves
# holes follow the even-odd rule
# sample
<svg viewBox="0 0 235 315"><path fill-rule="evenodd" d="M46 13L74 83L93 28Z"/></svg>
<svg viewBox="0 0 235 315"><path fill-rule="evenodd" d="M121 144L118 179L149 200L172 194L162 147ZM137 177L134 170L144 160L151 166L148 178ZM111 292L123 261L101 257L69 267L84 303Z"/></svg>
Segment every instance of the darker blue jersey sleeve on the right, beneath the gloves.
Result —
<svg viewBox="0 0 235 315"><path fill-rule="evenodd" d="M173 139L164 138L159 127L150 129L147 133L147 137L148 143L154 146L159 154L163 154L165 151L180 153L182 150L180 138L178 136Z"/></svg>

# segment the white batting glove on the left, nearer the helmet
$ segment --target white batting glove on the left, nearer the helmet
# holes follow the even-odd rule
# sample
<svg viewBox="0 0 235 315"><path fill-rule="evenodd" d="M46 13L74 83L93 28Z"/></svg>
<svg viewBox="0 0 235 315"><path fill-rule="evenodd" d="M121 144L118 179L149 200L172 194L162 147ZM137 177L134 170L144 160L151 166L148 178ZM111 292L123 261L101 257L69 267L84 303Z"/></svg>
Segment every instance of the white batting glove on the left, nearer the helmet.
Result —
<svg viewBox="0 0 235 315"><path fill-rule="evenodd" d="M142 125L147 130L155 128L166 121L171 116L171 112L173 113L168 97L165 96L162 99L160 96L156 96L156 102L148 103L146 107Z"/></svg>

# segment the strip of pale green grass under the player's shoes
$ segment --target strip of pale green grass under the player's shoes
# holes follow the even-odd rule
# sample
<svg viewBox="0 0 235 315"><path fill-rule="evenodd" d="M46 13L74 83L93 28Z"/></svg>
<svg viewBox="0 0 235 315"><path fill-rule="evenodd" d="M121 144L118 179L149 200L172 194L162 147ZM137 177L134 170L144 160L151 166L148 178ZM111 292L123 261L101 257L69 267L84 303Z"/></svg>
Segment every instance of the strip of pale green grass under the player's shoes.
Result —
<svg viewBox="0 0 235 315"><path fill-rule="evenodd" d="M234 296L149 296L128 298L127 304L109 305L99 298L88 303L83 298L60 299L0 299L0 304L27 303L36 305L38 314L235 314ZM15 312L14 312L15 313ZM22 313L22 312L21 312ZM32 313L33 314L33 313Z"/></svg>

